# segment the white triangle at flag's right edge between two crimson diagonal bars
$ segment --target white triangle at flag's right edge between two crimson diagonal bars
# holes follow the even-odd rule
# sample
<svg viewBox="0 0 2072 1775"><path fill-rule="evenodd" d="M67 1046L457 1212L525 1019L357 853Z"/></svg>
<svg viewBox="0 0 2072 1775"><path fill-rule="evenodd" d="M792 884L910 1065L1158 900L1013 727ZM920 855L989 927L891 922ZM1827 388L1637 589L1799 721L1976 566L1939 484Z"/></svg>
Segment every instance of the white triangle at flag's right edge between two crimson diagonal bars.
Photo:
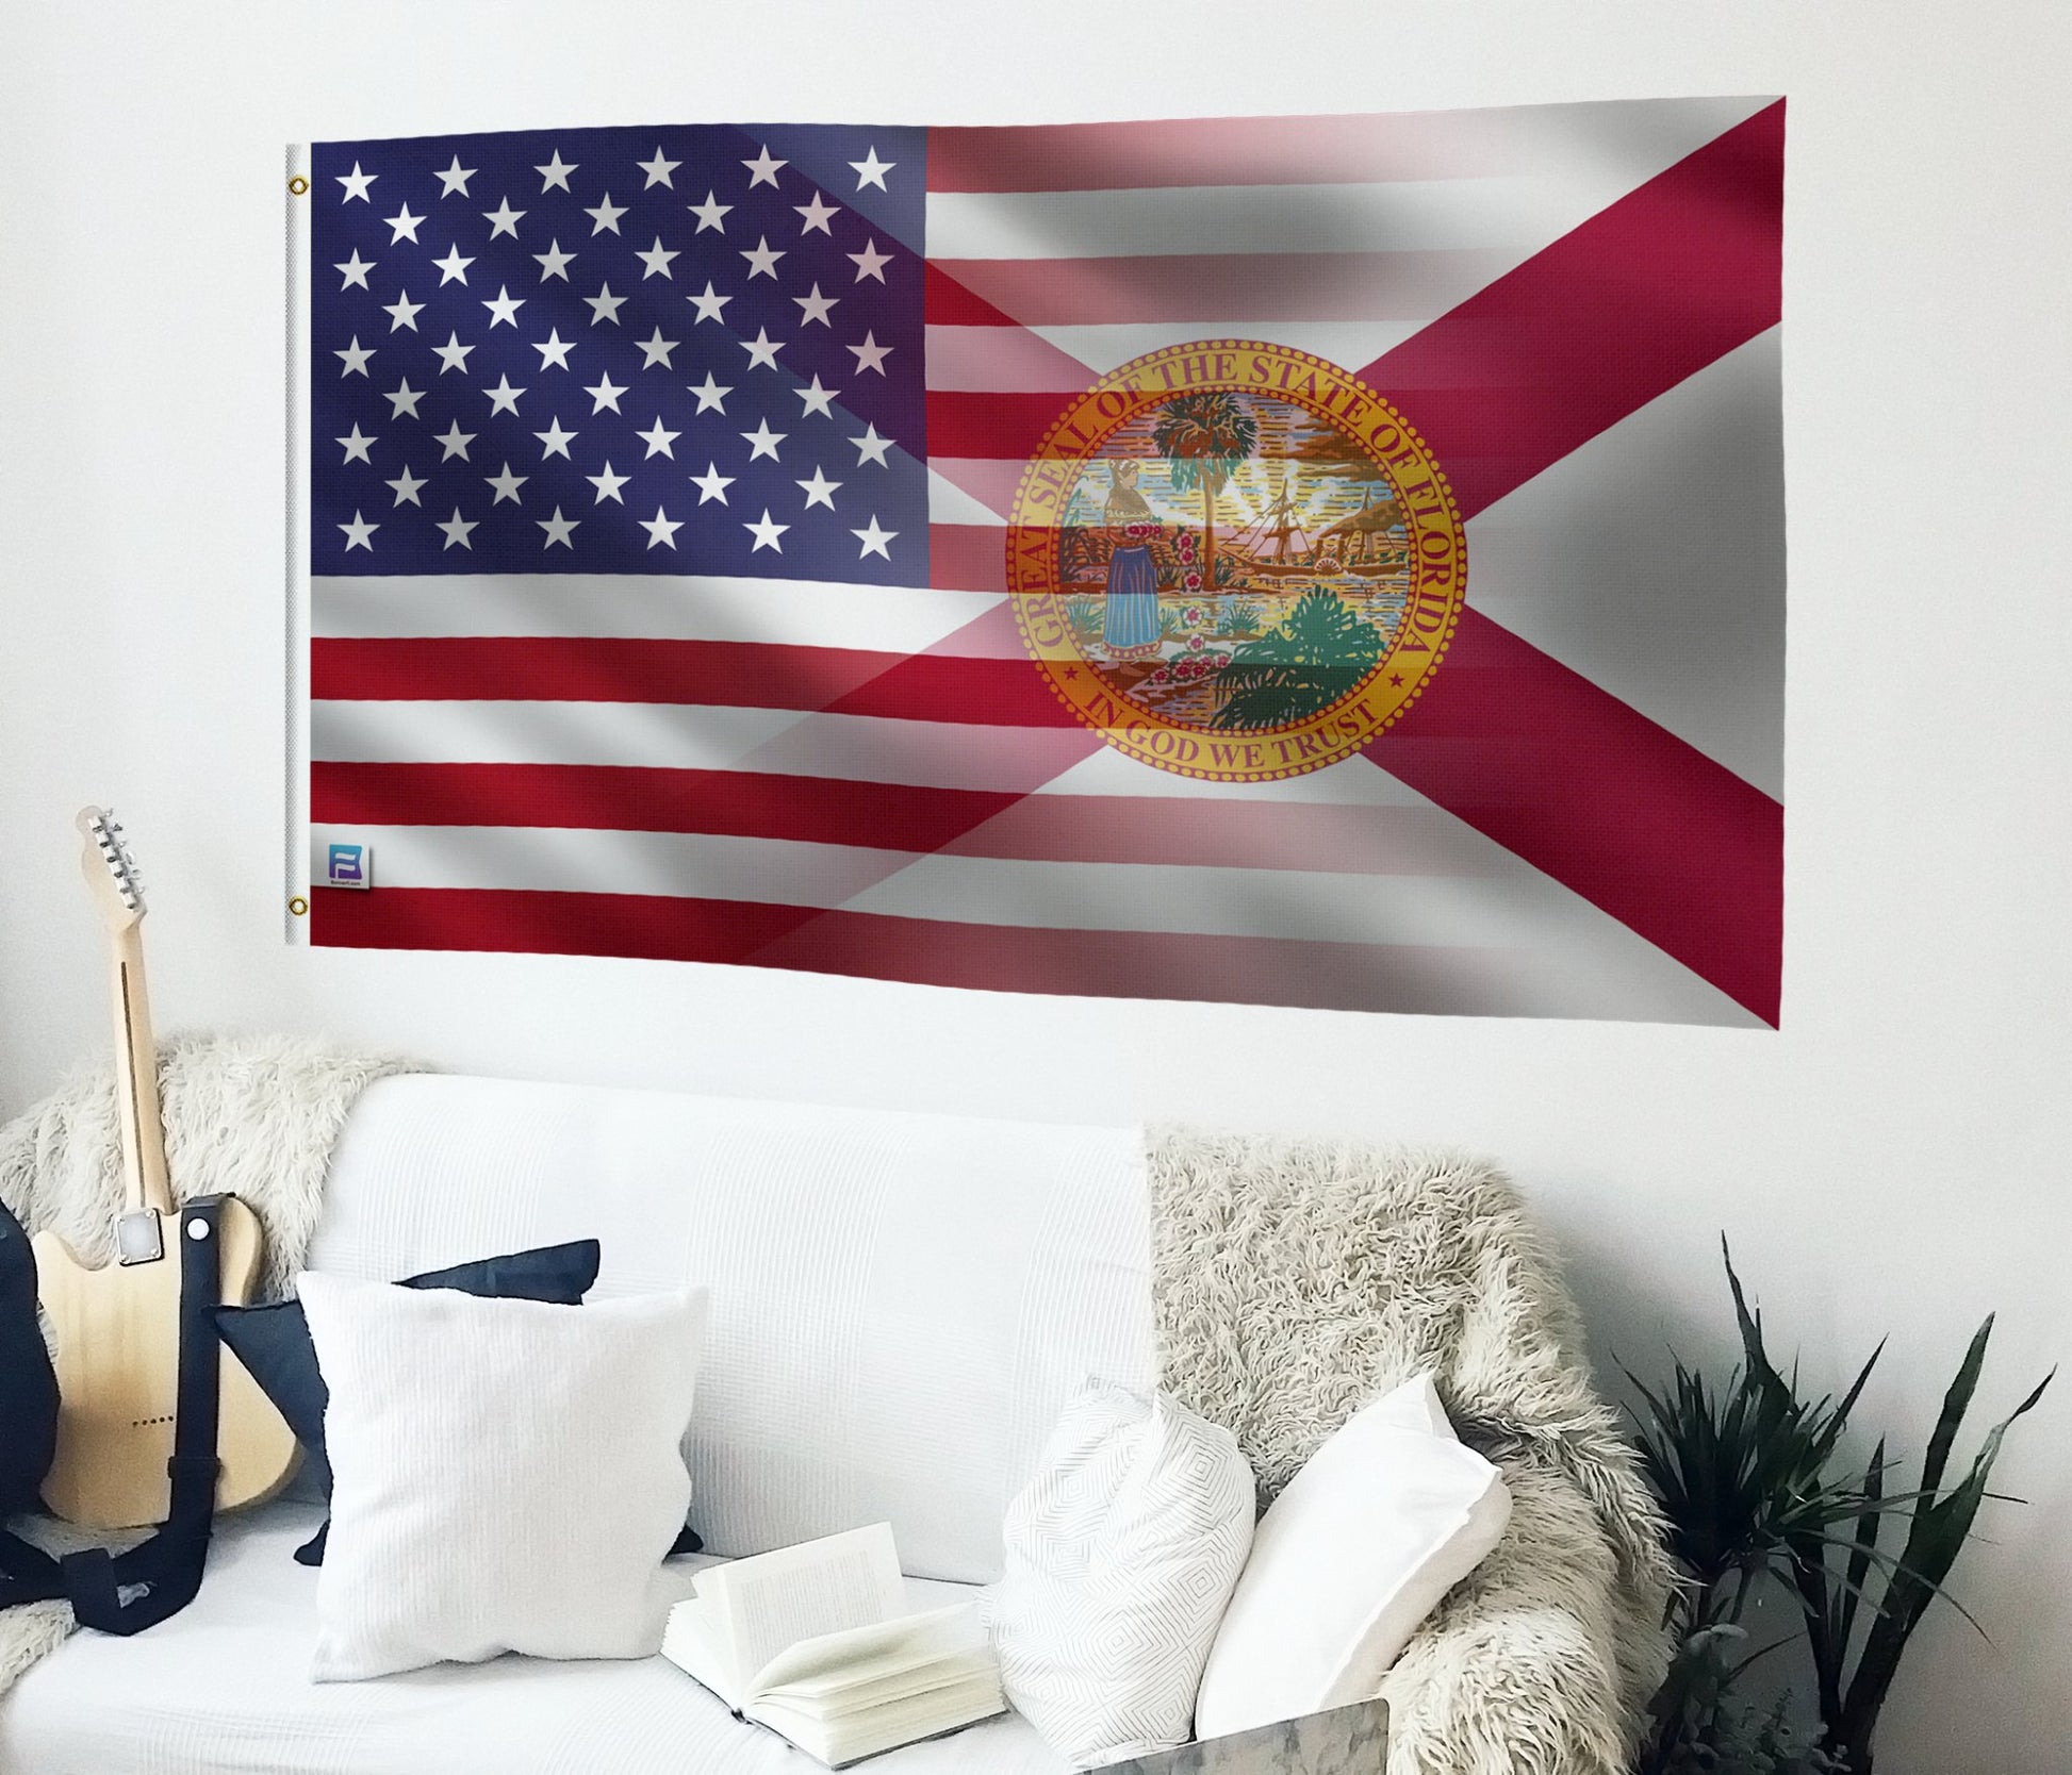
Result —
<svg viewBox="0 0 2072 1775"><path fill-rule="evenodd" d="M1782 799L1778 379L1769 329L1479 512L1467 601Z"/></svg>

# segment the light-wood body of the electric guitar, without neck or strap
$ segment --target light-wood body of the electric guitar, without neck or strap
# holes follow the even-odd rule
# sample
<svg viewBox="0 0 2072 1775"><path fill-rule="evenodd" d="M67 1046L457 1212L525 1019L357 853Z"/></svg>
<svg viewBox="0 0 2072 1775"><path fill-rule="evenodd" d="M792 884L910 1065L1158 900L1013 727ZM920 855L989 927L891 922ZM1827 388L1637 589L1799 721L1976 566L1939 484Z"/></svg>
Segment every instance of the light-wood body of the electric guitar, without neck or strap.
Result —
<svg viewBox="0 0 2072 1775"><path fill-rule="evenodd" d="M87 1270L54 1232L37 1234L44 1311L56 1336L58 1454L44 1502L85 1529L145 1529L166 1518L174 1406L180 1394L178 1214L157 1214L164 1259ZM222 1299L244 1305L259 1276L257 1216L222 1205ZM244 1365L222 1350L215 1508L263 1504L294 1473L294 1431Z"/></svg>

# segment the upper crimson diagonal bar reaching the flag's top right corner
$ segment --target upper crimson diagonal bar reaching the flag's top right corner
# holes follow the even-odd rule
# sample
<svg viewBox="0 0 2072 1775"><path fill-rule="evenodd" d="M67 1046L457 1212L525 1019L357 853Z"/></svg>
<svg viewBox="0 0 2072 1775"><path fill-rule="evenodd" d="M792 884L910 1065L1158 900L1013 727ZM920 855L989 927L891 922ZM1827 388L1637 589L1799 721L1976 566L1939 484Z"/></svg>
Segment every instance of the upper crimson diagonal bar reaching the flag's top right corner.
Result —
<svg viewBox="0 0 2072 1775"><path fill-rule="evenodd" d="M1778 323L1784 99L1376 358L1461 516Z"/></svg>

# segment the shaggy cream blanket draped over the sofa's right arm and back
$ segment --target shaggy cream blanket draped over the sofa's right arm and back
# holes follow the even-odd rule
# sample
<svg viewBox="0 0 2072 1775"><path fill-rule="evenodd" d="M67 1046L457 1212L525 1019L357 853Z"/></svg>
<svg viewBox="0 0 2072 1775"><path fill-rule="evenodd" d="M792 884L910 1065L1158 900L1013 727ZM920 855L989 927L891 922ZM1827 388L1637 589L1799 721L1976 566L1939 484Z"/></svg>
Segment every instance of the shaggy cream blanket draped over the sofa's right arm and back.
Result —
<svg viewBox="0 0 2072 1775"><path fill-rule="evenodd" d="M1196 1129L1156 1131L1148 1158L1162 1384L1237 1435L1262 1508L1419 1369L1510 1487L1504 1539L1382 1690L1388 1775L1631 1767L1674 1570L1508 1181L1459 1154Z"/></svg>

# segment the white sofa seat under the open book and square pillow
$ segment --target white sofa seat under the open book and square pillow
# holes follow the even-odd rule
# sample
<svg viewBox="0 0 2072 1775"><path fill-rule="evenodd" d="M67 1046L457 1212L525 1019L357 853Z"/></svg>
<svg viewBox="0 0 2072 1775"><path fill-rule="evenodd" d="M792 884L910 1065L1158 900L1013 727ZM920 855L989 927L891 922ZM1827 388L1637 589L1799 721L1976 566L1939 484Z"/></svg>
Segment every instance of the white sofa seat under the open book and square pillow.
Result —
<svg viewBox="0 0 2072 1775"><path fill-rule="evenodd" d="M0 1703L0 1775L825 1775L659 1657L499 1657L311 1684L317 1572L290 1553L321 1520L321 1504L224 1518L186 1609L126 1640L75 1634ZM671 1560L673 1595L690 1595L707 1564ZM972 1597L908 1584L916 1609ZM1001 1715L868 1771L1065 1775L1065 1765L1028 1721Z"/></svg>

